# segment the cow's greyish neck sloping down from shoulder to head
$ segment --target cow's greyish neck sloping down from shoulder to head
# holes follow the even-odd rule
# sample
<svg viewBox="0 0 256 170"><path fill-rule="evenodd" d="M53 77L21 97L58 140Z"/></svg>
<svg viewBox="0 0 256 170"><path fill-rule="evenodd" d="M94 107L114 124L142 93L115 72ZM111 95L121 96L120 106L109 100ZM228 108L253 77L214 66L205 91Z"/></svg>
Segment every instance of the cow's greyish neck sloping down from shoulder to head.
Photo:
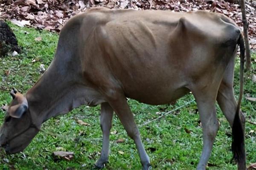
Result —
<svg viewBox="0 0 256 170"><path fill-rule="evenodd" d="M80 105L101 102L99 95L88 88L78 72L72 69L67 71L67 66L58 67L55 62L52 62L38 82L26 93L29 112L34 124L38 126L52 116L68 113ZM70 74L70 71L73 73Z"/></svg>

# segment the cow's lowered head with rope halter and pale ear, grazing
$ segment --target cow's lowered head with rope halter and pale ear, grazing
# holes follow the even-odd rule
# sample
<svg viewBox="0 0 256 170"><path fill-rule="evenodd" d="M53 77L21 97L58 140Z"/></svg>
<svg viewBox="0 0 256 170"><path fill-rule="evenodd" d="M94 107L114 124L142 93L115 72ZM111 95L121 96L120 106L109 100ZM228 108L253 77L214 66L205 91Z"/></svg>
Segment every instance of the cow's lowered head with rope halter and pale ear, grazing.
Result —
<svg viewBox="0 0 256 170"><path fill-rule="evenodd" d="M12 102L0 129L0 146L6 153L17 153L25 149L39 129L32 122L25 96L12 89Z"/></svg>

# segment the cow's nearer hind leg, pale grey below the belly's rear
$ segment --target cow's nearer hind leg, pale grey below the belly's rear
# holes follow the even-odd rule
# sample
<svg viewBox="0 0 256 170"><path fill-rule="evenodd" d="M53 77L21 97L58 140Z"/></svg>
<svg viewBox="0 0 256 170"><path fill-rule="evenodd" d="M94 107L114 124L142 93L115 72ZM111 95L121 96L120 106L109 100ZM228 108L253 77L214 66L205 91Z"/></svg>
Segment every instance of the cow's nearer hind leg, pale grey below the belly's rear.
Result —
<svg viewBox="0 0 256 170"><path fill-rule="evenodd" d="M197 170L206 169L212 151L212 145L219 127L215 108L216 98L214 98L214 96L216 95L210 94L206 96L205 93L201 92L198 95L195 95L203 127L203 152Z"/></svg>

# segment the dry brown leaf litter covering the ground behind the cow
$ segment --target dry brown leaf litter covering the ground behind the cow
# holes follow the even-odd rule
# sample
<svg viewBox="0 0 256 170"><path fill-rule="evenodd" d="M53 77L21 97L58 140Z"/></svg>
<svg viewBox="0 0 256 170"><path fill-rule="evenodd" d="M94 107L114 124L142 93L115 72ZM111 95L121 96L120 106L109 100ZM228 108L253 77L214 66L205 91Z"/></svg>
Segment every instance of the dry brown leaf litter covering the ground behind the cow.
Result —
<svg viewBox="0 0 256 170"><path fill-rule="evenodd" d="M70 17L96 6L175 12L207 10L231 17L240 27L242 24L238 0L2 0L0 18L11 20L19 26L59 32ZM256 49L255 8L256 1L246 1L248 31L253 49Z"/></svg>

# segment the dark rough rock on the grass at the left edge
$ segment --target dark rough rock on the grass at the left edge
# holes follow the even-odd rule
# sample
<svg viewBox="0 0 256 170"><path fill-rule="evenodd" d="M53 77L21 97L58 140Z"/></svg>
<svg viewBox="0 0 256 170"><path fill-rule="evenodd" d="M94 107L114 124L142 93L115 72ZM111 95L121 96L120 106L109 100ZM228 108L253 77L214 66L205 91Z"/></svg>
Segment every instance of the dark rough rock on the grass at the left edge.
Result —
<svg viewBox="0 0 256 170"><path fill-rule="evenodd" d="M0 20L0 57L6 56L11 51L20 52L17 38L8 24Z"/></svg>

